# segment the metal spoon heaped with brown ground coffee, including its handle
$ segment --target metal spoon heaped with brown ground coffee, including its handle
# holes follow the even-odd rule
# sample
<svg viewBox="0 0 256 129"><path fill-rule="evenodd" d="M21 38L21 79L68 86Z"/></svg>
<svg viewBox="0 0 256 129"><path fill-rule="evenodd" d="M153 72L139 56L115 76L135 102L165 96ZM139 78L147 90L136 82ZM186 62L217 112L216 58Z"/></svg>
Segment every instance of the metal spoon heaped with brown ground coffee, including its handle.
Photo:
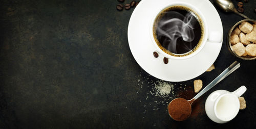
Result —
<svg viewBox="0 0 256 129"><path fill-rule="evenodd" d="M175 98L170 101L168 105L168 113L176 121L186 120L191 114L191 105L193 101L207 92L210 88L214 87L220 81L225 79L233 71L237 70L240 67L240 63L235 61L228 68L226 68L219 76L217 76L214 81L208 84L202 91L200 91L194 98L186 100L184 98Z"/></svg>

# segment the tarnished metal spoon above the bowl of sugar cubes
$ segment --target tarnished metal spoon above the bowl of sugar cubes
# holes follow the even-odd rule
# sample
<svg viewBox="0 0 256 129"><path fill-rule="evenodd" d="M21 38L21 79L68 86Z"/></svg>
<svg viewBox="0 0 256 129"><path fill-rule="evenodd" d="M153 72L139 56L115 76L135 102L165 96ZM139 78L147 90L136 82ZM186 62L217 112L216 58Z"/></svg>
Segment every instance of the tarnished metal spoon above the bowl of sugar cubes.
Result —
<svg viewBox="0 0 256 129"><path fill-rule="evenodd" d="M242 13L239 13L236 8L234 8L234 4L230 0L214 0L214 3L222 9L224 12L234 12L246 19L249 17L245 16Z"/></svg>

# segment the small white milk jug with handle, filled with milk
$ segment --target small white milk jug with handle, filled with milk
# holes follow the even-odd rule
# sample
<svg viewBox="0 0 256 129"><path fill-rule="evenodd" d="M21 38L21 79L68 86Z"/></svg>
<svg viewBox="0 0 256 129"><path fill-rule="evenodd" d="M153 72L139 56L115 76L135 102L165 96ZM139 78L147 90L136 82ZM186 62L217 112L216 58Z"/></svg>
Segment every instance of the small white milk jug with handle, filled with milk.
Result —
<svg viewBox="0 0 256 129"><path fill-rule="evenodd" d="M241 86L236 91L217 90L212 92L206 99L205 112L214 122L226 123L237 116L240 109L240 97L246 91Z"/></svg>

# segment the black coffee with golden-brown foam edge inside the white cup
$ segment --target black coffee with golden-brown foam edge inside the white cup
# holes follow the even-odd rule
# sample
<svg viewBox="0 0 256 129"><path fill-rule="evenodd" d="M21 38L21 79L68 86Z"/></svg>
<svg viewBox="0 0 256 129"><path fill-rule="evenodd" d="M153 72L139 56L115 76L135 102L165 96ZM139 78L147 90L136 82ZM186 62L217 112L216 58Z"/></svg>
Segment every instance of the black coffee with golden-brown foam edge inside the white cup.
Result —
<svg viewBox="0 0 256 129"><path fill-rule="evenodd" d="M192 54L204 39L204 24L192 9L177 5L163 9L155 18L153 36L166 54L184 57Z"/></svg>

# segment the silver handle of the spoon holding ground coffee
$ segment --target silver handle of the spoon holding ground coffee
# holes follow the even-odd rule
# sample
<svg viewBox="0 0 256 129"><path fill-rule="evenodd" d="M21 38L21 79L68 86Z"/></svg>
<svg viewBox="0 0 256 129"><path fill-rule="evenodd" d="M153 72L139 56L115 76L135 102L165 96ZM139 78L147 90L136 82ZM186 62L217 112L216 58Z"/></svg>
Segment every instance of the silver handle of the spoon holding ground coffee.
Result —
<svg viewBox="0 0 256 129"><path fill-rule="evenodd" d="M200 91L194 98L192 98L192 102L199 98L201 95L203 95L205 92L207 92L210 88L214 87L216 84L218 84L220 81L225 79L230 73L237 70L240 67L240 63L235 61L233 62L228 68L226 68L219 76L217 76L214 81L212 81L210 84L208 84L202 91Z"/></svg>

